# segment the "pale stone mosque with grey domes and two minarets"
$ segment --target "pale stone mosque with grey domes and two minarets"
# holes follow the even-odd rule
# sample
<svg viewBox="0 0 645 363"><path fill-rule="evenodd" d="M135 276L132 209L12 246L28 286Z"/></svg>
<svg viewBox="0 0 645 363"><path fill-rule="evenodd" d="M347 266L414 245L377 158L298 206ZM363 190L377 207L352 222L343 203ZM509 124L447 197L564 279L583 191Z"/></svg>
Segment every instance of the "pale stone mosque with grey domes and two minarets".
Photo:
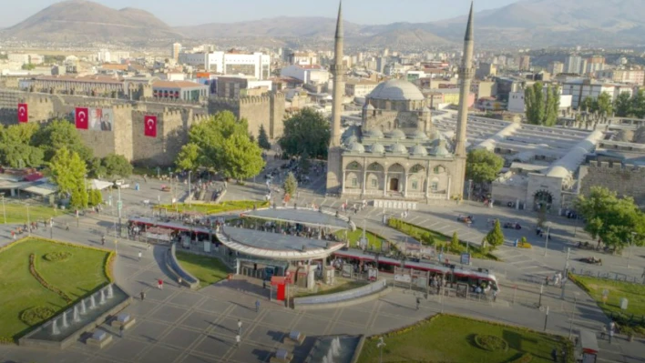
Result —
<svg viewBox="0 0 645 363"><path fill-rule="evenodd" d="M472 6L465 40L455 140L446 140L435 128L432 112L419 88L400 79L386 81L366 96L358 135L343 139L340 123L345 68L343 17L339 9L331 68L334 94L328 193L424 202L463 197L467 123L464 100L474 76Z"/></svg>

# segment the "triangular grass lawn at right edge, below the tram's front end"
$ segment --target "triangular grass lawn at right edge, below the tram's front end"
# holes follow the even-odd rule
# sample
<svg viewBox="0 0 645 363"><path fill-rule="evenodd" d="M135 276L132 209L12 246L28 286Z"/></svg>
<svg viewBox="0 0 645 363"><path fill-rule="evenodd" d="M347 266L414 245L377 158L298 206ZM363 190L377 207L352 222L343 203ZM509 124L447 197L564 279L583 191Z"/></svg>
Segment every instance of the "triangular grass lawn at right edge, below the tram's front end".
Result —
<svg viewBox="0 0 645 363"><path fill-rule="evenodd" d="M634 329L634 332L645 335L645 286L620 282L598 277L569 275L578 286L589 292L589 295L598 301L598 306L607 314L616 317L623 332ZM602 292L607 290L609 296L607 303L602 302ZM629 304L627 310L620 308L620 298L627 297ZM618 316L617 316L618 313ZM630 321L631 315L634 315ZM627 328L627 329L626 329Z"/></svg>

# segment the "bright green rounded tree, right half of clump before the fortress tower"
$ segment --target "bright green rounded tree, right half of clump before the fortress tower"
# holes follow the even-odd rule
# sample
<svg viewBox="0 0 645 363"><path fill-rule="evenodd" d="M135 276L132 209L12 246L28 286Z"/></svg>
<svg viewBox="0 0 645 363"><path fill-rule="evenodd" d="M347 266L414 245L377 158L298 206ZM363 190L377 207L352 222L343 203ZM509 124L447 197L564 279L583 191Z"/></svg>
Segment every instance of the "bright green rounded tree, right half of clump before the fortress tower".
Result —
<svg viewBox="0 0 645 363"><path fill-rule="evenodd" d="M220 170L227 177L241 180L257 176L265 165L260 146L246 135L230 136L224 141L222 151Z"/></svg>

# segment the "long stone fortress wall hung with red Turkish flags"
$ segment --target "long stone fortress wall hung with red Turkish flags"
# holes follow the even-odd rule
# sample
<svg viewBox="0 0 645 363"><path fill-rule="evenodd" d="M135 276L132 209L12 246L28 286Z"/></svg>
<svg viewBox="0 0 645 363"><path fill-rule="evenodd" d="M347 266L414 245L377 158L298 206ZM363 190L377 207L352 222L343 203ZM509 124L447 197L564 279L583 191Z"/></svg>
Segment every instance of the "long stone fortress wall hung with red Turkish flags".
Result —
<svg viewBox="0 0 645 363"><path fill-rule="evenodd" d="M17 104L28 105L29 122L45 124L56 118L74 122L76 107L109 108L114 114L111 131L79 130L95 156L110 153L126 156L145 166L169 166L188 140L189 127L209 115L228 110L238 118L246 118L249 132L257 137L264 126L270 140L282 136L285 113L284 95L247 96L241 98L210 97L208 103L180 102L142 98L125 99L32 93L15 89L0 89L0 124L15 125ZM157 137L144 136L145 115L157 120Z"/></svg>

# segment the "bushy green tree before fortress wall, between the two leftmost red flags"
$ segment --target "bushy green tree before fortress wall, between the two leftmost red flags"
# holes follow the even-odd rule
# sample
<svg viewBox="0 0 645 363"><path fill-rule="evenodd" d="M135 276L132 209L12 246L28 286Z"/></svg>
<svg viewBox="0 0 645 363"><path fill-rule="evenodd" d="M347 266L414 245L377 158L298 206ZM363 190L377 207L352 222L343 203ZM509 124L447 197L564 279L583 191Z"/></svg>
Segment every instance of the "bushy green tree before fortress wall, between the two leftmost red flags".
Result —
<svg viewBox="0 0 645 363"><path fill-rule="evenodd" d="M76 152L84 161L92 159L92 149L85 145L76 126L67 120L54 120L41 127L34 135L33 142L45 151L45 161L50 161L62 147Z"/></svg>

